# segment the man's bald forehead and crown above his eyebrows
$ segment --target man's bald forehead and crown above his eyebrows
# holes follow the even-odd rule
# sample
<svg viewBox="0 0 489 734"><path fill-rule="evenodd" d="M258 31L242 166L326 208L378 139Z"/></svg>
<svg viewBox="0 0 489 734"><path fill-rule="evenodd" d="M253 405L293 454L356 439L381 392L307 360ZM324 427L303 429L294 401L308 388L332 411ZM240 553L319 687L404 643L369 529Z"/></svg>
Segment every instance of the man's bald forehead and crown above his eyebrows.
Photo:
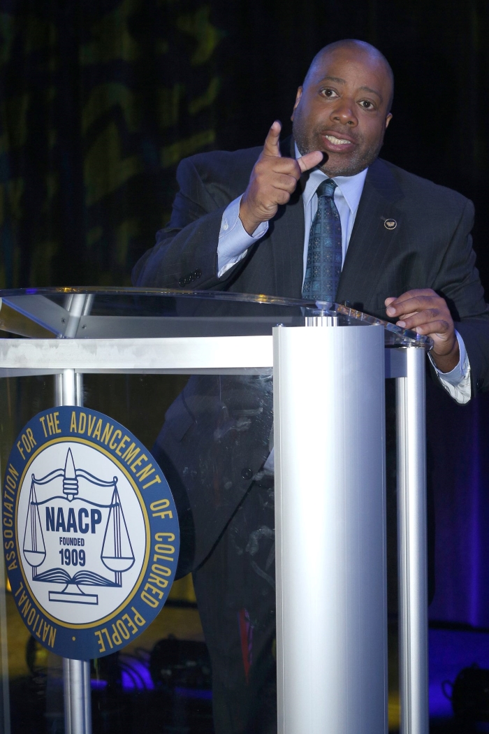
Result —
<svg viewBox="0 0 489 734"><path fill-rule="evenodd" d="M391 79L382 59L354 46L326 51L315 62L306 77L306 87L320 84L326 77L351 87L372 87L383 98L389 97Z"/></svg>

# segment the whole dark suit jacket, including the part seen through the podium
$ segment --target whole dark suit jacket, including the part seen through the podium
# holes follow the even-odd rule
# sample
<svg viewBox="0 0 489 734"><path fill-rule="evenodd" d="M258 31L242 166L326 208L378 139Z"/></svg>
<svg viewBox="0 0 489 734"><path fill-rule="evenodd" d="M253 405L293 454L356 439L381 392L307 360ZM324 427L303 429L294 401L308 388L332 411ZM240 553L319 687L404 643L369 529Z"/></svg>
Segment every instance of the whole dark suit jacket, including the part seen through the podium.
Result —
<svg viewBox="0 0 489 734"><path fill-rule="evenodd" d="M290 155L291 145L284 142L282 154ZM222 215L246 189L261 150L202 153L180 163L172 219L136 264L136 285L301 297L299 187L246 258L221 280L216 276ZM476 390L489 388L489 317L474 266L473 218L471 202L457 192L378 159L367 172L337 301L385 319L386 297L411 288L438 291L463 336ZM395 219L396 228L387 229L386 219ZM192 378L166 415L155 453L185 508L180 522L186 518L184 524L194 523L196 531L182 573L210 553L268 455L267 391L270 385L257 378Z"/></svg>

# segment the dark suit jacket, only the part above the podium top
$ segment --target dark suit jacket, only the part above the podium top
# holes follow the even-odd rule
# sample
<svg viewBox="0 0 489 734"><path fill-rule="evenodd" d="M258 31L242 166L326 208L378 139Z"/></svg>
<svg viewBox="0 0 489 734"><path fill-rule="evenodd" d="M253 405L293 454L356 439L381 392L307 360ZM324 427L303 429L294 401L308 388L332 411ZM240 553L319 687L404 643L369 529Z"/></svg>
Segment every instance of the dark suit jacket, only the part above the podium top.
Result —
<svg viewBox="0 0 489 734"><path fill-rule="evenodd" d="M292 145L284 141L282 154L290 155ZM155 247L136 264L135 285L301 297L304 206L299 186L246 258L223 278L216 275L222 215L245 191L261 150L200 153L180 163L172 218L158 232ZM387 229L386 219L395 219L397 227ZM475 391L489 388L489 316L474 264L473 221L474 206L462 195L378 159L367 172L337 301L348 300L385 319L387 297L433 288L448 302L466 344Z"/></svg>

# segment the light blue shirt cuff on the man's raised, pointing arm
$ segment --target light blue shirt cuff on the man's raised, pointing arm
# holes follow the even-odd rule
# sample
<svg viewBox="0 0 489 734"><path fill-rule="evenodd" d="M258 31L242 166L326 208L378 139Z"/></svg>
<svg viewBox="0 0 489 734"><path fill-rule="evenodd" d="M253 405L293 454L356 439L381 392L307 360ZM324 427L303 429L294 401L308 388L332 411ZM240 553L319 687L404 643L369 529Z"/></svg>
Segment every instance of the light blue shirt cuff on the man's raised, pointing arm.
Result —
<svg viewBox="0 0 489 734"><path fill-rule="evenodd" d="M217 246L217 277L222 277L229 268L243 260L251 244L261 239L268 230L268 222L262 222L252 235L246 232L240 220L241 196L232 201L222 215Z"/></svg>

